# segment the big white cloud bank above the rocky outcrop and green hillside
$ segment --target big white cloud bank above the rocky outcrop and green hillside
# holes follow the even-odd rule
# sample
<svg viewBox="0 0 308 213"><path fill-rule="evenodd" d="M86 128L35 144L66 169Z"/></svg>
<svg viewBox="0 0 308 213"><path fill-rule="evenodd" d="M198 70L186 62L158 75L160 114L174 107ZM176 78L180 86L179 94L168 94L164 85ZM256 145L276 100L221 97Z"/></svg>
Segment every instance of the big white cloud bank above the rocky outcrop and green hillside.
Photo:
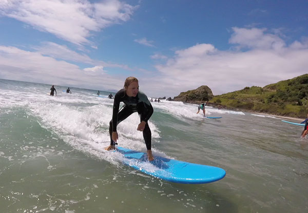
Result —
<svg viewBox="0 0 308 213"><path fill-rule="evenodd" d="M230 43L237 48L222 51L211 44L197 44L177 50L165 64L156 66L160 76L144 79L146 85L165 95L178 95L201 85L221 94L308 73L308 40L287 46L265 29L233 29Z"/></svg>

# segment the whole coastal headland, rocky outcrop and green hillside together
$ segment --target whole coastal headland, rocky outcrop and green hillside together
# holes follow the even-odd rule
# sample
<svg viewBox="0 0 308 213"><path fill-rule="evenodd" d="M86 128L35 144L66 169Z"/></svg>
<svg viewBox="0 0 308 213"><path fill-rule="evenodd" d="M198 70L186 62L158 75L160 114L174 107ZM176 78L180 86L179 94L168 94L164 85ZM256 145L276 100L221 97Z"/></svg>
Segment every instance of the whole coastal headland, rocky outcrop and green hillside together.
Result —
<svg viewBox="0 0 308 213"><path fill-rule="evenodd" d="M252 86L242 90L213 95L208 86L181 92L172 101L190 104L208 102L208 106L271 114L283 118L303 119L308 113L308 74L269 84Z"/></svg>

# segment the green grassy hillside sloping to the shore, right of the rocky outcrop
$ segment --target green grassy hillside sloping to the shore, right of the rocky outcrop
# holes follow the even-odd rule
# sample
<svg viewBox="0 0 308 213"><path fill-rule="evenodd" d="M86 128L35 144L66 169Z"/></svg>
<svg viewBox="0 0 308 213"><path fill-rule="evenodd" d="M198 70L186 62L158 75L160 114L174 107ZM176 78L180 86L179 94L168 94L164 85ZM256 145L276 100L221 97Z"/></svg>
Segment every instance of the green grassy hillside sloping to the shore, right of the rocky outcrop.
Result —
<svg viewBox="0 0 308 213"><path fill-rule="evenodd" d="M269 84L215 95L212 103L228 108L253 110L290 117L305 118L308 113L308 74Z"/></svg>

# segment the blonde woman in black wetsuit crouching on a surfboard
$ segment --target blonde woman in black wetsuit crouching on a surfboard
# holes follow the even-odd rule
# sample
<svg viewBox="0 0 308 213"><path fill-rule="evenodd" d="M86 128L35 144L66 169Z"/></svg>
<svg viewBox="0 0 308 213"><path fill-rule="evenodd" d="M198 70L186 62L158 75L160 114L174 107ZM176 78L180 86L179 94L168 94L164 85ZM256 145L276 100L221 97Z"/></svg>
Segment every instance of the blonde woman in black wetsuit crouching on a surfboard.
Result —
<svg viewBox="0 0 308 213"><path fill-rule="evenodd" d="M124 105L119 110L120 102L123 102ZM154 158L151 151L151 130L148 120L153 113L153 107L147 96L139 91L138 79L134 77L128 77L125 80L124 88L114 95L112 120L109 123L110 145L105 149L115 149L115 144L117 144L118 140L117 126L133 112L138 112L140 115L140 124L137 130L143 132L147 157L149 161L152 161Z"/></svg>

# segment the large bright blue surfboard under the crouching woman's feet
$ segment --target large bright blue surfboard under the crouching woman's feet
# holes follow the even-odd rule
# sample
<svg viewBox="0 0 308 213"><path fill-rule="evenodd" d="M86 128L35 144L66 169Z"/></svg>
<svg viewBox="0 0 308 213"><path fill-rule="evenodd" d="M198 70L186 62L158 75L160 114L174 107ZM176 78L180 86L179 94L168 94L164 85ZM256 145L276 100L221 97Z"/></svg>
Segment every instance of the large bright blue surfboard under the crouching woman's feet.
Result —
<svg viewBox="0 0 308 213"><path fill-rule="evenodd" d="M174 183L211 183L223 179L226 175L224 169L215 166L188 163L160 156L154 156L153 161L148 161L146 153L119 146L117 151L123 154L124 164L147 175Z"/></svg>

